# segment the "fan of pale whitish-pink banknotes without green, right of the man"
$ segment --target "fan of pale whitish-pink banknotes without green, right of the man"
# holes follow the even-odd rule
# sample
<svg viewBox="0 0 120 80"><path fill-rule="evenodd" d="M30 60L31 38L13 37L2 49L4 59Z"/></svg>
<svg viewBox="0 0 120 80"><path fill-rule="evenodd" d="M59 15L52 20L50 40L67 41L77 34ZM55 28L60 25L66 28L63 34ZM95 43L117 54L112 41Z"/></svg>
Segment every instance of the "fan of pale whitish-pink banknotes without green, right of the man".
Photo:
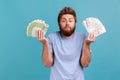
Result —
<svg viewBox="0 0 120 80"><path fill-rule="evenodd" d="M83 21L83 25L88 31L88 33L93 32L96 36L99 36L106 32L106 29L102 22L95 17L86 18Z"/></svg>

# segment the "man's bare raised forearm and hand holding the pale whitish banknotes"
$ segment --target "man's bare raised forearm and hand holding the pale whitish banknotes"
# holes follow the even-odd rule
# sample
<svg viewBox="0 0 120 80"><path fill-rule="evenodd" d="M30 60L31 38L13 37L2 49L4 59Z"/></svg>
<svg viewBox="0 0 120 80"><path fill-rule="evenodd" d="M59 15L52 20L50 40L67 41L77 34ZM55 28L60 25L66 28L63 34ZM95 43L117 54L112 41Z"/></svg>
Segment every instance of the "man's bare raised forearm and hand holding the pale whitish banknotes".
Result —
<svg viewBox="0 0 120 80"><path fill-rule="evenodd" d="M90 63L91 60L90 43L94 42L95 39L96 39L95 35L93 33L90 33L89 36L84 41L82 55L80 58L80 63L83 67L88 67Z"/></svg>

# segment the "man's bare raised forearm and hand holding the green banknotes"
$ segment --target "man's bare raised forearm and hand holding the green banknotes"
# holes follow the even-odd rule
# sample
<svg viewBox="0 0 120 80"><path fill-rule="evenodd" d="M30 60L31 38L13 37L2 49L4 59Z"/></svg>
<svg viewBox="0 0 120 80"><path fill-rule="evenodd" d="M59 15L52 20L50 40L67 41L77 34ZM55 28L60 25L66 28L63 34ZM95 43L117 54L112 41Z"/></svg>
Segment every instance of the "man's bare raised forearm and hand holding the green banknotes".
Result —
<svg viewBox="0 0 120 80"><path fill-rule="evenodd" d="M39 30L37 32L37 39L43 44L42 60L46 67L53 64L53 54L50 53L48 40L44 37L44 32Z"/></svg>

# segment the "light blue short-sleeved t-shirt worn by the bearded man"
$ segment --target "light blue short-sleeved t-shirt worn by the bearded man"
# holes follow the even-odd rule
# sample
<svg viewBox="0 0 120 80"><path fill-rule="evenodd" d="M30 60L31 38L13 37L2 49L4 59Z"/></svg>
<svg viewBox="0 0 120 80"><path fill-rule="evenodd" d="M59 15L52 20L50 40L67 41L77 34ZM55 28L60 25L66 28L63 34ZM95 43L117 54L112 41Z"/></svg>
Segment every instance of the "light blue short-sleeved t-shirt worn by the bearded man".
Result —
<svg viewBox="0 0 120 80"><path fill-rule="evenodd" d="M50 80L84 80L80 56L86 36L74 32L71 38L64 38L60 32L48 36L50 52L54 54Z"/></svg>

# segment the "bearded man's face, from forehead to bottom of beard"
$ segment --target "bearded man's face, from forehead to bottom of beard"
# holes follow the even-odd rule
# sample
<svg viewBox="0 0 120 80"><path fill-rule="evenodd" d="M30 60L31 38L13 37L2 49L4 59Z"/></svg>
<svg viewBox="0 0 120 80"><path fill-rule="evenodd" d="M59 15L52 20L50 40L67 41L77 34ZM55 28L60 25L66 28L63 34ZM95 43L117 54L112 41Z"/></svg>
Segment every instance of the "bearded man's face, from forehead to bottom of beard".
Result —
<svg viewBox="0 0 120 80"><path fill-rule="evenodd" d="M71 36L75 30L75 18L71 14L64 14L60 18L60 31L64 36Z"/></svg>

